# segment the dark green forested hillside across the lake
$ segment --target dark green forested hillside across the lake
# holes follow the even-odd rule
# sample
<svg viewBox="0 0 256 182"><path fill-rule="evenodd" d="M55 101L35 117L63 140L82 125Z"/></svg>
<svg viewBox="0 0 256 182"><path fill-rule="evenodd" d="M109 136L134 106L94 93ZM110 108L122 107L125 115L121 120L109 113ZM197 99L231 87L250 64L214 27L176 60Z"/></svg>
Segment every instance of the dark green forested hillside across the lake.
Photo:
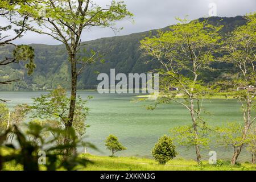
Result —
<svg viewBox="0 0 256 182"><path fill-rule="evenodd" d="M236 26L245 24L246 20L242 16L234 18L218 18L212 17L209 19L210 23L223 24L222 34L226 34ZM167 30L170 27L163 28ZM154 35L156 30L131 34L126 36L115 36L113 38L102 38L84 42L84 48L88 51L101 50L102 53L107 53L104 56L105 63L100 60L94 63L79 77L79 89L96 88L97 74L109 73L110 68L115 68L116 73L143 73L157 68L158 65L154 62L146 63L150 58L144 57L139 49L139 41L148 36ZM47 90L56 88L61 85L69 89L70 76L68 66L68 56L65 53L65 47L60 46L47 46L43 44L32 44L35 49L35 64L36 69L32 76L26 75L24 65L11 64L10 66L0 68L0 76L4 79L20 78L19 82L14 82L12 85L2 86L1 90ZM12 53L12 47L2 47L0 50L0 57L5 57ZM214 67L225 68L224 64L215 64ZM208 74L208 80L217 77L221 71Z"/></svg>

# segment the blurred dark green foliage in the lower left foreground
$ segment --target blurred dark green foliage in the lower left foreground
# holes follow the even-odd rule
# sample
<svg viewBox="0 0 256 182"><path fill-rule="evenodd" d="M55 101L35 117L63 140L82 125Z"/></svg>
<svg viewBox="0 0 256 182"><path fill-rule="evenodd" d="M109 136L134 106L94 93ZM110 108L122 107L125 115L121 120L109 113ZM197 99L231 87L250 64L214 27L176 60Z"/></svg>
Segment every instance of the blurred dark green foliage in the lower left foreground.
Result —
<svg viewBox="0 0 256 182"><path fill-rule="evenodd" d="M13 130L7 130L5 134L0 136L0 152L3 149L9 151L7 155L0 153L0 170L3 164L11 161L14 161L16 164L21 164L24 171L39 171L40 169L49 171L67 169L70 171L77 169L79 165L86 166L86 164L89 163L89 160L81 159L77 154L73 154L70 158L65 158L63 152L60 152L67 148L76 148L85 144L77 139L75 131L72 128L68 130L69 136L72 138L71 143L52 146L52 143L55 142L57 137L63 133L67 133L67 130L52 129L47 125L41 126L32 122L26 127L26 134L20 131L18 127L14 126ZM46 132L52 133L52 137L45 139L43 134ZM15 135L18 146L9 143L3 144L9 133ZM45 156L40 156L41 153L45 154ZM39 166L41 160L43 163Z"/></svg>

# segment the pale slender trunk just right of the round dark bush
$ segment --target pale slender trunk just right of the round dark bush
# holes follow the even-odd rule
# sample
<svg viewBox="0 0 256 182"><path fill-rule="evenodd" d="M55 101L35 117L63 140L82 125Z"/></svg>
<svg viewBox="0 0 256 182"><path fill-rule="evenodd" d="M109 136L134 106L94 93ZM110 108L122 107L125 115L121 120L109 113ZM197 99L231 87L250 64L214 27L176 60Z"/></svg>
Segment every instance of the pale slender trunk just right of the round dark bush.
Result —
<svg viewBox="0 0 256 182"><path fill-rule="evenodd" d="M196 118L195 118L195 109L194 109L194 104L193 104L193 99L191 98L190 100L191 102L191 110L190 110L190 114L191 114L191 118L192 118L192 122L193 122L193 131L194 131L194 135L195 135L195 140L198 140L198 132L197 132L197 123L196 123ZM200 147L199 144L195 144L196 147L196 159L197 159L197 164L201 164L201 154L200 154Z"/></svg>

